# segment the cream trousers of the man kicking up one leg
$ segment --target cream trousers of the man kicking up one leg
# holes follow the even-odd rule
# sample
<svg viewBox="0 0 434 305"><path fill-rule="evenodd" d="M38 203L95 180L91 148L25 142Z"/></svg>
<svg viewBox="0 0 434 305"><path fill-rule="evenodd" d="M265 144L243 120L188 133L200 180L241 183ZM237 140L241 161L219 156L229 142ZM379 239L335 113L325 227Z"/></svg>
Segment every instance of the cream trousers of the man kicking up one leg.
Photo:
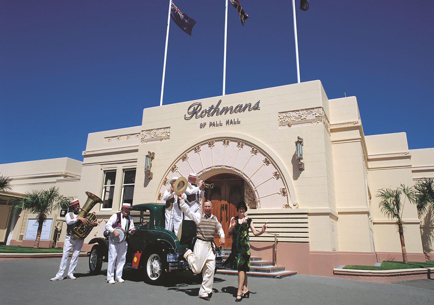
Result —
<svg viewBox="0 0 434 305"><path fill-rule="evenodd" d="M193 273L202 271L202 285L199 296L208 296L213 291L214 272L216 268L216 255L211 248L210 241L196 240L194 251L187 250L184 254Z"/></svg>

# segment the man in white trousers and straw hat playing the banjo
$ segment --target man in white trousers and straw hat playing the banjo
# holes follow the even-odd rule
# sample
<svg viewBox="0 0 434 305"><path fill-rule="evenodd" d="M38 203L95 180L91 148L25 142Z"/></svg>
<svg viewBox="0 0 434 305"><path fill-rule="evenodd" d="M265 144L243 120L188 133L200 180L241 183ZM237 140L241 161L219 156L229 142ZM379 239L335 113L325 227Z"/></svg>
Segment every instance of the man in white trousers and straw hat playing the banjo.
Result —
<svg viewBox="0 0 434 305"><path fill-rule="evenodd" d="M125 265L125 256L127 254L128 243L125 238L122 238L120 243L114 243L114 239L119 238L121 234L126 237L127 232L134 233L135 227L133 218L130 216L130 203L123 203L121 211L119 213L113 214L109 221L105 224L105 230L111 232L111 238L109 238L109 266L107 266L107 282L109 284L114 284L116 282L125 282L122 279L122 269ZM121 230L124 230L122 232ZM115 278L115 263L116 263L116 278Z"/></svg>

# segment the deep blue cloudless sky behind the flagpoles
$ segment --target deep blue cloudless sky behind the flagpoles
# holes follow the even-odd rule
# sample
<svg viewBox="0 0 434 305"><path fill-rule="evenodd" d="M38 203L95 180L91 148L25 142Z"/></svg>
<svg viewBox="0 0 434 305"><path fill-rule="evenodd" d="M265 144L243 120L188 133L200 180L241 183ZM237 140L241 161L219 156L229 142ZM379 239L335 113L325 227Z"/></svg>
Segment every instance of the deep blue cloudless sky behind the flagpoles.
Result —
<svg viewBox="0 0 434 305"><path fill-rule="evenodd" d="M296 83L292 4L228 7L226 93ZM197 21L171 21L164 104L221 95L224 0L176 0ZM298 4L299 1L296 1ZM319 1L297 8L301 81L354 95L366 135L432 136L433 1ZM141 124L159 105L168 0L0 3L0 163L82 160L87 134Z"/></svg>

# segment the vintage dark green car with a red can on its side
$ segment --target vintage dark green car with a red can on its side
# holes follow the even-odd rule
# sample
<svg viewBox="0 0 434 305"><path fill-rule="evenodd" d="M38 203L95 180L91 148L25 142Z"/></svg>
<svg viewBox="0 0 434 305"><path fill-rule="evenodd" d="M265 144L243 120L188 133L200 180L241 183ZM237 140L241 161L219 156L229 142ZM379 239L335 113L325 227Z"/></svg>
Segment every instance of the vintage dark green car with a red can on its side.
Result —
<svg viewBox="0 0 434 305"><path fill-rule="evenodd" d="M140 212L136 231L127 237L128 250L125 267L143 270L145 282L161 284L172 273L187 270L188 263L178 253L186 247L193 250L196 241L196 226L191 221L184 221L181 240L164 228L164 204L145 203L132 206L131 211ZM149 214L148 214L148 213ZM145 221L149 217L148 221ZM109 261L109 238L93 238L95 243L89 254L91 273L99 273L103 262ZM217 247L216 269L223 263L221 247Z"/></svg>

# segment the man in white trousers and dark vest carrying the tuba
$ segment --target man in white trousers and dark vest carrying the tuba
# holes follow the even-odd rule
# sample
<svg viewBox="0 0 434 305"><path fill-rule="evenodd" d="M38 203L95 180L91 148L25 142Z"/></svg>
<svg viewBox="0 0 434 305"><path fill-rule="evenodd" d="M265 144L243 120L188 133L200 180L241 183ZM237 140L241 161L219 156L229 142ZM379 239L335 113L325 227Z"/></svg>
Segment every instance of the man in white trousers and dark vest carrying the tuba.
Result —
<svg viewBox="0 0 434 305"><path fill-rule="evenodd" d="M68 279L76 279L74 276L74 272L77 266L77 260L79 259L80 250L83 246L84 239L76 240L71 236L72 229L77 227L80 223L86 224L88 223L86 218L78 217L80 211L80 202L78 199L72 199L69 202L69 210L70 212L65 215L66 221L66 236L65 243L63 243L63 256L60 261L59 271L56 276L51 278L50 281L61 281L63 279L63 273L66 269L66 264L68 263L69 251L72 249L72 257L71 262L69 263L68 269ZM92 222L93 227L97 225L96 222Z"/></svg>

